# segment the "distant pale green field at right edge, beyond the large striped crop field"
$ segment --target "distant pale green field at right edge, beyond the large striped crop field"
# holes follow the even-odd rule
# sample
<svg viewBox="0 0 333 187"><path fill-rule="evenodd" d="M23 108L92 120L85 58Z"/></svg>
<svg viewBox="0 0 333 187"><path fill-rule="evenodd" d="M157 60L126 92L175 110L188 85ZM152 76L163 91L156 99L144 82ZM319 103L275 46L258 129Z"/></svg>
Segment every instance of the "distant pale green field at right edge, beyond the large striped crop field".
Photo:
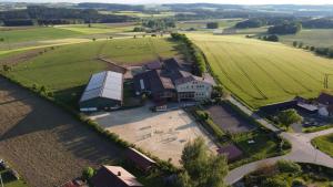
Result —
<svg viewBox="0 0 333 187"><path fill-rule="evenodd" d="M306 45L332 46L333 29L302 30L297 34L280 35L281 42L292 44L293 41L303 42Z"/></svg>

